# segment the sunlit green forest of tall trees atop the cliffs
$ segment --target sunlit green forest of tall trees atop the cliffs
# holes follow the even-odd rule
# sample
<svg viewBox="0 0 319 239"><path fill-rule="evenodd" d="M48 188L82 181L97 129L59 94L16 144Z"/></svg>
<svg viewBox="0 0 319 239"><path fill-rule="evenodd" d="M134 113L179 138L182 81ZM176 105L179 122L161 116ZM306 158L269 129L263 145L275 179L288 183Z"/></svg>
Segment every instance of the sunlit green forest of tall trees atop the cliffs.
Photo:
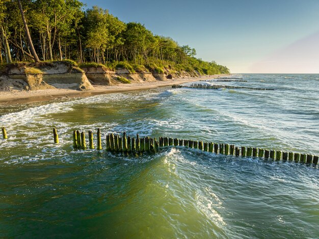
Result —
<svg viewBox="0 0 319 239"><path fill-rule="evenodd" d="M0 28L1 64L72 60L130 71L229 73L226 66L196 58L189 45L78 0L0 0Z"/></svg>

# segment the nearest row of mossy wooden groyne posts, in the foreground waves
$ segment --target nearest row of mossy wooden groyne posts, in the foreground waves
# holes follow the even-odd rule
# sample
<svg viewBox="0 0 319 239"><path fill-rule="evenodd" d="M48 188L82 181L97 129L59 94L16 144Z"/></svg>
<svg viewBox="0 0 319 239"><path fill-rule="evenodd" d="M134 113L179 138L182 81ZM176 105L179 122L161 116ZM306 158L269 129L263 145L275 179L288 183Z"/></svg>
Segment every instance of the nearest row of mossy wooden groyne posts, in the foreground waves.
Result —
<svg viewBox="0 0 319 239"><path fill-rule="evenodd" d="M91 131L92 132L92 131ZM73 131L73 148L86 149L85 137L78 141L77 135L79 131ZM81 134L84 134L82 132ZM92 133L89 131L89 136ZM100 129L97 129L97 142L100 144ZM90 148L93 146L93 137L89 137ZM77 142L77 143L76 143ZM92 147L91 147L92 145ZM160 148L164 147L187 147L191 149L197 149L199 151L210 152L215 154L234 155L236 157L258 157L265 160L274 161L290 161L295 163L305 163L318 165L318 156L313 154L298 153L298 152L286 152L281 150L263 149L257 147L235 146L232 144L204 142L195 140L183 140L178 138L169 137L140 137L139 134L136 137L129 137L126 132L123 135L119 134L107 134L105 137L105 149L110 152L119 153L142 153L142 152L157 152ZM101 144L97 149L102 149Z"/></svg>

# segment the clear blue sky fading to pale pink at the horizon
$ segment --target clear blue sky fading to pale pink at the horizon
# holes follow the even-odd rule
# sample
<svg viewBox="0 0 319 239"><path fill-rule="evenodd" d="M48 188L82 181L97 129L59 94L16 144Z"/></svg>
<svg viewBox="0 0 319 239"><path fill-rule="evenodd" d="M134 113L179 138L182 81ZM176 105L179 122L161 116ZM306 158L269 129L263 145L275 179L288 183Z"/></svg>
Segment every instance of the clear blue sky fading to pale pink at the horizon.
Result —
<svg viewBox="0 0 319 239"><path fill-rule="evenodd" d="M232 73L319 73L319 0L82 0Z"/></svg>

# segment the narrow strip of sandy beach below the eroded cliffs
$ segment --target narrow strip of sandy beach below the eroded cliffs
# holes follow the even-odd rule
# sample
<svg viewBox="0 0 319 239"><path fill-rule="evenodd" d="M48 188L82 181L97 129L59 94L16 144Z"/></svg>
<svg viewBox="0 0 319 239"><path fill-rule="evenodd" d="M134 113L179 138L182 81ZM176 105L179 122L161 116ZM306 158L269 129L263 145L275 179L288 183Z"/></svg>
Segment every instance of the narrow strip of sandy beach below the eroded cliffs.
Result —
<svg viewBox="0 0 319 239"><path fill-rule="evenodd" d="M0 104L21 104L39 101L48 101L56 98L75 98L75 97L90 97L101 94L121 93L137 90L149 90L159 87L171 86L174 84L183 84L189 82L197 82L201 79L217 78L219 76L228 76L230 74L218 74L200 77L187 77L178 79L168 79L167 81L145 82L121 84L116 86L96 86L93 85L94 90L77 91L69 89L50 89L50 90L36 90L36 91L3 91L0 92Z"/></svg>

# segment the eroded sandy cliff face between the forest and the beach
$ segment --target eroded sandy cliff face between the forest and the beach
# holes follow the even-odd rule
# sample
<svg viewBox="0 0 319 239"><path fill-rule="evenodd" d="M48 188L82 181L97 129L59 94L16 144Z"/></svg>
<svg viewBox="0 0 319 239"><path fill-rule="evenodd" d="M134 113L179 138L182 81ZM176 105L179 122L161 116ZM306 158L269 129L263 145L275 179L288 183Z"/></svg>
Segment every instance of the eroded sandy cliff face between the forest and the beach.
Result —
<svg viewBox="0 0 319 239"><path fill-rule="evenodd" d="M200 76L198 72L165 73L141 71L130 73L127 69L110 70L104 66L78 68L68 62L15 63L0 71L0 90L72 89L93 90L92 85L113 86L123 84L121 78L131 83L167 81L168 78Z"/></svg>

